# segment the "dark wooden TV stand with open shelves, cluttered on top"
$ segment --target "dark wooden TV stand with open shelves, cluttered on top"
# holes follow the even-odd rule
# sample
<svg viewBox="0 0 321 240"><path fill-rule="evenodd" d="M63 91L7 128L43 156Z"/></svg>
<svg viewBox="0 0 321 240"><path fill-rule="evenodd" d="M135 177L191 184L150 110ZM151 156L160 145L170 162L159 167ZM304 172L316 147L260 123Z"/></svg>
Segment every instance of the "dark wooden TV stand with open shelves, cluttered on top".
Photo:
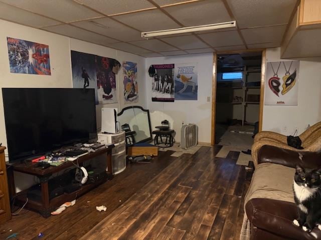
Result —
<svg viewBox="0 0 321 240"><path fill-rule="evenodd" d="M82 165L83 162L92 159L93 157L106 154L106 161L107 161L107 169L109 175L112 176L112 163L111 163L111 149L114 145L109 145L103 147L101 149L96 150L95 152L90 152L86 155L78 157L77 160L74 162ZM7 171L8 171L8 181L9 181L9 192L10 198L15 198L15 205L23 206L26 202L26 208L35 210L40 212L40 214L44 217L49 217L50 213L56 210L61 204L65 203L66 201L72 201L76 199L76 197L85 194L86 192L90 191L94 187L98 186L99 184L105 182L106 178L97 180L94 183L85 184L81 186L80 189L71 192L71 193L63 193L62 195L56 196L52 199L49 199L49 188L48 188L48 180L53 175L53 173L60 172L73 166L72 161L64 162L59 166L50 166L46 169L41 169L38 167L34 167L35 163L21 163L21 162L14 162L14 163L7 163ZM40 180L41 184L41 201L36 201L32 199L28 199L27 201L27 192L29 189L25 189L21 192L16 193L16 186L15 186L15 179L14 179L14 171L27 173L30 175L37 176Z"/></svg>

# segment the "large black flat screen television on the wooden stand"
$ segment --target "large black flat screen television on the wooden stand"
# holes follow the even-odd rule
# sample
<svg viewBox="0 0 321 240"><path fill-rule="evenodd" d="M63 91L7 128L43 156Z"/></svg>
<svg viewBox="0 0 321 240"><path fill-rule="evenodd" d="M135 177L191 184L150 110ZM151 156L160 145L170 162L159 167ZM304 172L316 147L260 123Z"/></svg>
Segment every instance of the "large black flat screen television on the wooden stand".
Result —
<svg viewBox="0 0 321 240"><path fill-rule="evenodd" d="M97 137L94 89L2 88L9 161Z"/></svg>

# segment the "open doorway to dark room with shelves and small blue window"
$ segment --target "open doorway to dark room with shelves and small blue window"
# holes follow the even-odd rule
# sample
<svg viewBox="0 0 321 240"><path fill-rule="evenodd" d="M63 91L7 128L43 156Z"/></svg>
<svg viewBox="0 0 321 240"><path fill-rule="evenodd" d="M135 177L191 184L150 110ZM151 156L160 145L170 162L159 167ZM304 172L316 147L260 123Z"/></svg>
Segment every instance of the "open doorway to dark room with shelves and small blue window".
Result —
<svg viewBox="0 0 321 240"><path fill-rule="evenodd" d="M262 125L264 53L247 51L216 55L215 78L213 74L216 94L212 103L215 109L213 141L216 144L235 150L251 148L253 135Z"/></svg>

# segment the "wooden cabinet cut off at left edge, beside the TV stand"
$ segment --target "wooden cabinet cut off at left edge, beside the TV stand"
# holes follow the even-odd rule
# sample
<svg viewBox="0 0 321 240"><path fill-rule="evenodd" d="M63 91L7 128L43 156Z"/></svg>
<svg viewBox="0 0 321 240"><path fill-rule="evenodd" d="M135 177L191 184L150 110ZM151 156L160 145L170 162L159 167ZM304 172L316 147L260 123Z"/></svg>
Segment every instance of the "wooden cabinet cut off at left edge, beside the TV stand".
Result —
<svg viewBox="0 0 321 240"><path fill-rule="evenodd" d="M5 149L0 146L0 224L11 219Z"/></svg>

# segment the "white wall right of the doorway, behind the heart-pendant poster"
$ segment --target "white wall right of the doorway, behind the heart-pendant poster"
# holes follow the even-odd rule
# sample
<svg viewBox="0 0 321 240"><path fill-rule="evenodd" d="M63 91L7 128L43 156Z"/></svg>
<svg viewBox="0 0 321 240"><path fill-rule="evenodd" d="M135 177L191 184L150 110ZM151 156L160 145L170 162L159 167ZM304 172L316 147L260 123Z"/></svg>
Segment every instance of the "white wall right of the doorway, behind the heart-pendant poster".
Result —
<svg viewBox="0 0 321 240"><path fill-rule="evenodd" d="M267 61L283 60L279 47L268 48L266 57ZM264 105L263 130L289 135L295 129L301 133L308 124L321 121L321 58L299 60L297 106Z"/></svg>

